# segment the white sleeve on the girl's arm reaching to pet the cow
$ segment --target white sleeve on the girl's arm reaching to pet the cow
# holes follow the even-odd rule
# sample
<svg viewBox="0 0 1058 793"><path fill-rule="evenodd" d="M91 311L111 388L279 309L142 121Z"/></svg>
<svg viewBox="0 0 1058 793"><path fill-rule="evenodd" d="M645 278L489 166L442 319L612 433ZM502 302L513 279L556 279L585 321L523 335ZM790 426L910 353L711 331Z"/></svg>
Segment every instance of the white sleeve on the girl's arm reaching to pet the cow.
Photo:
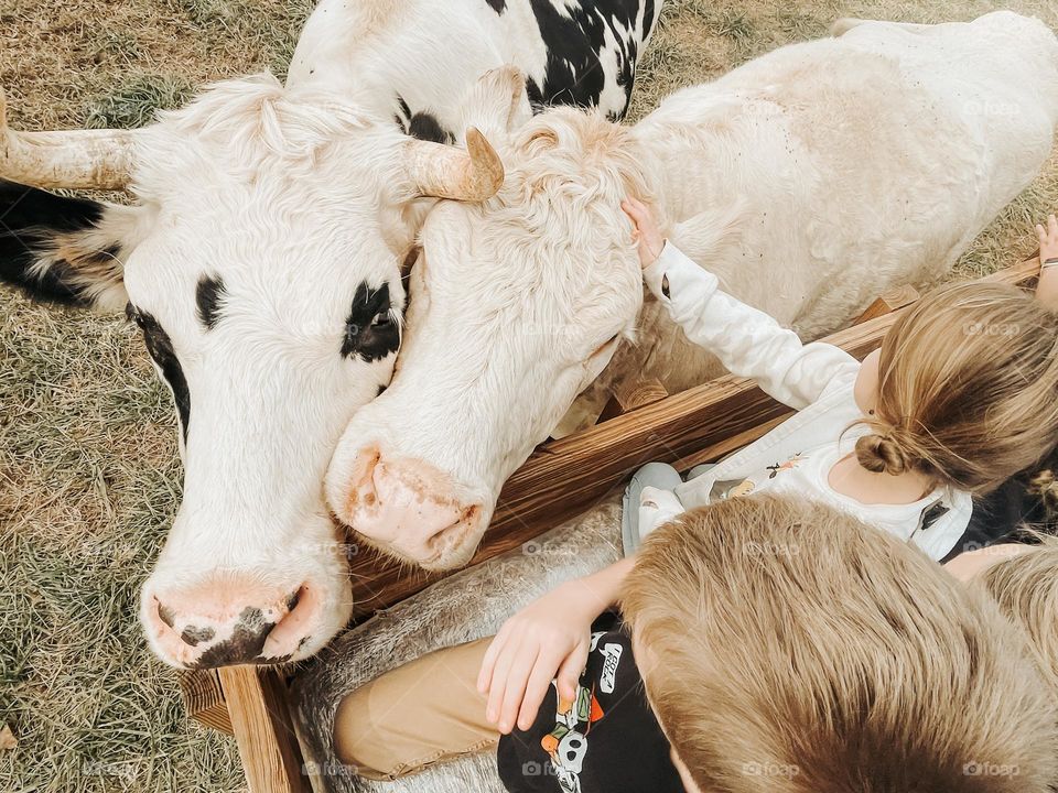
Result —
<svg viewBox="0 0 1058 793"><path fill-rule="evenodd" d="M716 276L671 242L644 271L650 291L694 344L709 350L733 374L756 381L779 402L802 410L839 376L860 362L840 347L801 344L771 316L720 289Z"/></svg>

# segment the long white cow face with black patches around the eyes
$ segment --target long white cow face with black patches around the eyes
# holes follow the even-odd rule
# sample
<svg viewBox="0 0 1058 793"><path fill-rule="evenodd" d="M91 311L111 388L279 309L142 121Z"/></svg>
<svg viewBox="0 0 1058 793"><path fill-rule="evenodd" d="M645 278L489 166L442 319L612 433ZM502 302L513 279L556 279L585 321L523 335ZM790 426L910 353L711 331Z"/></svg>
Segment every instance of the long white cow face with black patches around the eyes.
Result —
<svg viewBox="0 0 1058 793"><path fill-rule="evenodd" d="M141 598L151 645L180 665L306 656L348 620L321 482L345 423L392 374L411 236L399 135L315 119L277 86L225 104L205 124L199 111L153 130L156 159L137 173L153 217L125 265L181 414L183 503Z"/></svg>

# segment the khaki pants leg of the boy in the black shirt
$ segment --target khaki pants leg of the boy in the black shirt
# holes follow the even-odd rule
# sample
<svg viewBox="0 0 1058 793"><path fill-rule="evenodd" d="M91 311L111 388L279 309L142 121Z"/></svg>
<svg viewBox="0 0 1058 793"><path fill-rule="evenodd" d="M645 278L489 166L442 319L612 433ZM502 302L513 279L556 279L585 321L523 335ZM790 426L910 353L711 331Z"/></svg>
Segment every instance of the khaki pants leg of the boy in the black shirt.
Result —
<svg viewBox="0 0 1058 793"><path fill-rule="evenodd" d="M492 637L438 650L349 694L334 719L338 759L367 779L392 780L490 749L477 674Z"/></svg>

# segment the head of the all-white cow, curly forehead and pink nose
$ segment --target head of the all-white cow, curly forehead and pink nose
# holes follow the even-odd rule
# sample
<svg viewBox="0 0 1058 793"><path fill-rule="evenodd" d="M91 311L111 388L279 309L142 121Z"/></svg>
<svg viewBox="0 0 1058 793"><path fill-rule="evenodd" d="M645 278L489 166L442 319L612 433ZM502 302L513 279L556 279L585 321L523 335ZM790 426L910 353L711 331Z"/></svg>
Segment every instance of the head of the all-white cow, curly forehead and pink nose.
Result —
<svg viewBox="0 0 1058 793"><path fill-rule="evenodd" d="M573 109L529 118L508 72L478 99L506 182L427 218L397 374L327 474L343 521L430 569L469 560L504 480L630 337L643 302L620 202L649 191L628 130Z"/></svg>

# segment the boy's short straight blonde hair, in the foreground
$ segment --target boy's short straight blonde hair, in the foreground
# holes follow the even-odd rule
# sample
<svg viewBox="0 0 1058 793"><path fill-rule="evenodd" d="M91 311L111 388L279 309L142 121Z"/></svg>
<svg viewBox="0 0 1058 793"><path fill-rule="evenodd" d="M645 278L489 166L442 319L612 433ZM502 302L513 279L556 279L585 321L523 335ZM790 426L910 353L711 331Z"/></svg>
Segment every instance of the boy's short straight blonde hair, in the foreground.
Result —
<svg viewBox="0 0 1058 793"><path fill-rule="evenodd" d="M1058 707L980 587L834 509L688 512L644 543L623 610L702 793L1044 793Z"/></svg>

